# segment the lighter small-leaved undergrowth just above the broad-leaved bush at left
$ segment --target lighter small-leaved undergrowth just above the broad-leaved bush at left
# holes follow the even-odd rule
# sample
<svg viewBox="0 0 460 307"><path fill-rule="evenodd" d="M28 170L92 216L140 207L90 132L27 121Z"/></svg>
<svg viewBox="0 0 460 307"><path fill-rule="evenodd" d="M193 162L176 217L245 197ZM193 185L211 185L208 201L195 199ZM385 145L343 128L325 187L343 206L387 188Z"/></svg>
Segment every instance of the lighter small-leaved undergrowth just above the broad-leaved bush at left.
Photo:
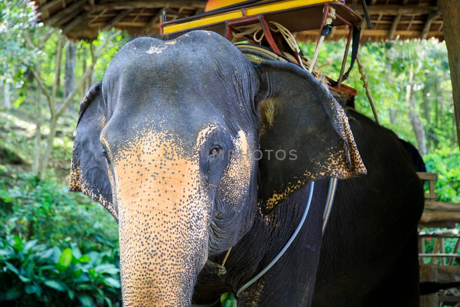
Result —
<svg viewBox="0 0 460 307"><path fill-rule="evenodd" d="M20 236L38 243L76 243L84 252L115 249L118 226L107 210L55 179L13 174L0 166L0 237Z"/></svg>

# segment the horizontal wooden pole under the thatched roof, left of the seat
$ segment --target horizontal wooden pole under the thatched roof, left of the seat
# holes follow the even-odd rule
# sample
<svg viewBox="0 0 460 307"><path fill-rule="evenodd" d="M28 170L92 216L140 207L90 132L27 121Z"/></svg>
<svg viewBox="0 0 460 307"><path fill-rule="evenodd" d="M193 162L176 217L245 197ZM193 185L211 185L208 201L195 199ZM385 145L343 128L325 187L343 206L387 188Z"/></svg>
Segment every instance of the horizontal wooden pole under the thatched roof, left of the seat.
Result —
<svg viewBox="0 0 460 307"><path fill-rule="evenodd" d="M205 7L206 1L204 0L175 0L175 1L168 1L168 0L133 0L133 1L116 1L116 2L108 2L102 4L95 4L94 6L85 6L89 8L94 8L97 11L104 10L104 9L112 9L112 10L124 10L124 9L132 9L136 7L144 7L144 8L161 8L161 7L183 7L183 6L190 6L190 7Z"/></svg>

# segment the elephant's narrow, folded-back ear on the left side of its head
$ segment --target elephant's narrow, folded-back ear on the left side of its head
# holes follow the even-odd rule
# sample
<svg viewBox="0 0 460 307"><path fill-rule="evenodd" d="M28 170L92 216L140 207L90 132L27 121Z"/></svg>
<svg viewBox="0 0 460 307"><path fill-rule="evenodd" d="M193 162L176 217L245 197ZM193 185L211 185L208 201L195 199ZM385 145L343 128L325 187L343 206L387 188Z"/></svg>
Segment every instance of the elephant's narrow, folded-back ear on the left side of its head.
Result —
<svg viewBox="0 0 460 307"><path fill-rule="evenodd" d="M77 134L72 151L69 191L77 191L91 197L104 206L118 221L118 213L112 201L108 168L100 135L101 121L105 120L105 106L101 82L96 82L80 103Z"/></svg>

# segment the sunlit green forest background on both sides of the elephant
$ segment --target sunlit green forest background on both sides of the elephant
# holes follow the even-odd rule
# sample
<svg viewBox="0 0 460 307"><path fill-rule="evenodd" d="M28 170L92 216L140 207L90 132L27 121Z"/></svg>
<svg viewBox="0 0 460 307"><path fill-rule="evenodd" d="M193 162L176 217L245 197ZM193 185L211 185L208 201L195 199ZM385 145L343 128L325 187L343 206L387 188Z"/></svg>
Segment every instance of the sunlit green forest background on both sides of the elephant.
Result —
<svg viewBox="0 0 460 307"><path fill-rule="evenodd" d="M69 41L23 2L0 0L0 302L120 306L118 226L67 185L79 102L133 37L110 30L92 43ZM314 44L299 44L313 53ZM322 46L318 63L331 60L322 71L334 79L344 50L345 41ZM439 173L439 200L460 203L445 43L366 43L360 55L381 124ZM360 78L355 67L345 84L359 91L357 110L373 118ZM229 297L222 306L232 306Z"/></svg>

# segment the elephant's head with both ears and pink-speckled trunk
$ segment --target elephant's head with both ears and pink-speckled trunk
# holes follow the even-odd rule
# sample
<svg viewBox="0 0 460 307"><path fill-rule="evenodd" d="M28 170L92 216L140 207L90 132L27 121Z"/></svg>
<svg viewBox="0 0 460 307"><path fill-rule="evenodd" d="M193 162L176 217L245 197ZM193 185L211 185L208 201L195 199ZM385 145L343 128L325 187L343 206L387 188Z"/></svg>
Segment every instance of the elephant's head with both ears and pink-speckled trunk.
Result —
<svg viewBox="0 0 460 307"><path fill-rule="evenodd" d="M256 214L312 180L364 173L342 108L311 74L255 67L193 31L115 55L80 105L69 190L118 221L124 306L190 306L207 257Z"/></svg>

